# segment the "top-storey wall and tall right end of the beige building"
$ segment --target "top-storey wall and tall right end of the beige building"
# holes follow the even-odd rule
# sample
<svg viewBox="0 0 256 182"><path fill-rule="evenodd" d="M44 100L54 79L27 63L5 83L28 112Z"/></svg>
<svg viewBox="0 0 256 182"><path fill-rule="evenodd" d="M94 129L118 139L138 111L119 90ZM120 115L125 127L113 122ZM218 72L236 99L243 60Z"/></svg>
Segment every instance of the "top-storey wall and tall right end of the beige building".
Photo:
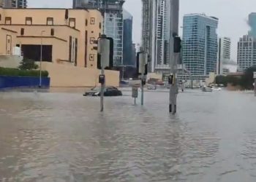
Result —
<svg viewBox="0 0 256 182"><path fill-rule="evenodd" d="M99 11L67 9L68 19L65 18L66 9L4 9L3 11L2 21L5 20L5 17L12 17L12 25L25 25L26 17L32 17L32 25L46 25L47 17L53 17L54 25L72 26L72 23L69 24L69 22L75 18L75 29L80 31L78 66L97 68L97 51L93 50L95 46L93 40L102 33L102 15Z"/></svg>

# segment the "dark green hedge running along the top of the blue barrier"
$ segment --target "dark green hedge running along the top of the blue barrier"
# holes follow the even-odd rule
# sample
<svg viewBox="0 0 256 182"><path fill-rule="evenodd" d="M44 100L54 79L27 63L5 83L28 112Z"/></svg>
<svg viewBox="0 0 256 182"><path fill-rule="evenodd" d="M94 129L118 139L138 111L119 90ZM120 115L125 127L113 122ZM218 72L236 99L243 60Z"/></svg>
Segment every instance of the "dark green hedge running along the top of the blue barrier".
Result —
<svg viewBox="0 0 256 182"><path fill-rule="evenodd" d="M19 70L15 68L1 68L1 76L30 76L30 77L39 77L39 70ZM42 71L42 77L48 77L48 71Z"/></svg>

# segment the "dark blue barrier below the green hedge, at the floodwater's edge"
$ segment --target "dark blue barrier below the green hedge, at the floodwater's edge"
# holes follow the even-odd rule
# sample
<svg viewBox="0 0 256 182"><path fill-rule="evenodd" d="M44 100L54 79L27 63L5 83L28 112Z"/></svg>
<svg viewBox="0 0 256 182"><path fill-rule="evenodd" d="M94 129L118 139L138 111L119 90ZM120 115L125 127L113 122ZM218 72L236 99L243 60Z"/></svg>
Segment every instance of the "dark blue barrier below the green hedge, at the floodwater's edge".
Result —
<svg viewBox="0 0 256 182"><path fill-rule="evenodd" d="M0 76L0 89L13 87L38 87L39 77ZM42 78L42 87L50 87L50 78Z"/></svg>

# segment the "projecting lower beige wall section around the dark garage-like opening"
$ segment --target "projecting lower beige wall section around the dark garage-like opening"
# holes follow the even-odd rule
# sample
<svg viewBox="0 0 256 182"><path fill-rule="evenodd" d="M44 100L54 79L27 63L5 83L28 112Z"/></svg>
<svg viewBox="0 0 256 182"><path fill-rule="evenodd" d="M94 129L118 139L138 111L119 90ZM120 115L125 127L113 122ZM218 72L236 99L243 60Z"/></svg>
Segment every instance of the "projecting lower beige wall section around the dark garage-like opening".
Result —
<svg viewBox="0 0 256 182"><path fill-rule="evenodd" d="M70 28L67 25L0 25L2 28L10 28L18 32L16 44L21 45L52 45L53 55L52 62L58 60L71 62L75 66L75 39L80 38L80 31ZM23 35L21 29L23 28ZM51 36L51 30L54 35ZM44 32L42 32L44 31ZM69 36L72 36L72 59L69 60ZM12 46L15 46L13 44ZM26 58L26 55L24 55ZM38 59L39 60L39 59ZM37 61L38 61L37 60ZM45 61L45 60L43 60Z"/></svg>

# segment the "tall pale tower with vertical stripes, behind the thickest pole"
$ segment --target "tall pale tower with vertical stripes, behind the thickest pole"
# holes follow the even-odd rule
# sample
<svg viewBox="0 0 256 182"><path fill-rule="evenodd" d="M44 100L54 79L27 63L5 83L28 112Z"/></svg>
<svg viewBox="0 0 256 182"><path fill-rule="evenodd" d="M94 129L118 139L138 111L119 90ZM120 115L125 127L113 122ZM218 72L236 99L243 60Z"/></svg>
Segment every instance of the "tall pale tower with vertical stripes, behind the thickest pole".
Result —
<svg viewBox="0 0 256 182"><path fill-rule="evenodd" d="M143 0L142 47L150 58L150 71L170 74L171 29L178 35L178 1ZM172 20L170 20L173 17ZM172 25L171 25L172 23Z"/></svg>

